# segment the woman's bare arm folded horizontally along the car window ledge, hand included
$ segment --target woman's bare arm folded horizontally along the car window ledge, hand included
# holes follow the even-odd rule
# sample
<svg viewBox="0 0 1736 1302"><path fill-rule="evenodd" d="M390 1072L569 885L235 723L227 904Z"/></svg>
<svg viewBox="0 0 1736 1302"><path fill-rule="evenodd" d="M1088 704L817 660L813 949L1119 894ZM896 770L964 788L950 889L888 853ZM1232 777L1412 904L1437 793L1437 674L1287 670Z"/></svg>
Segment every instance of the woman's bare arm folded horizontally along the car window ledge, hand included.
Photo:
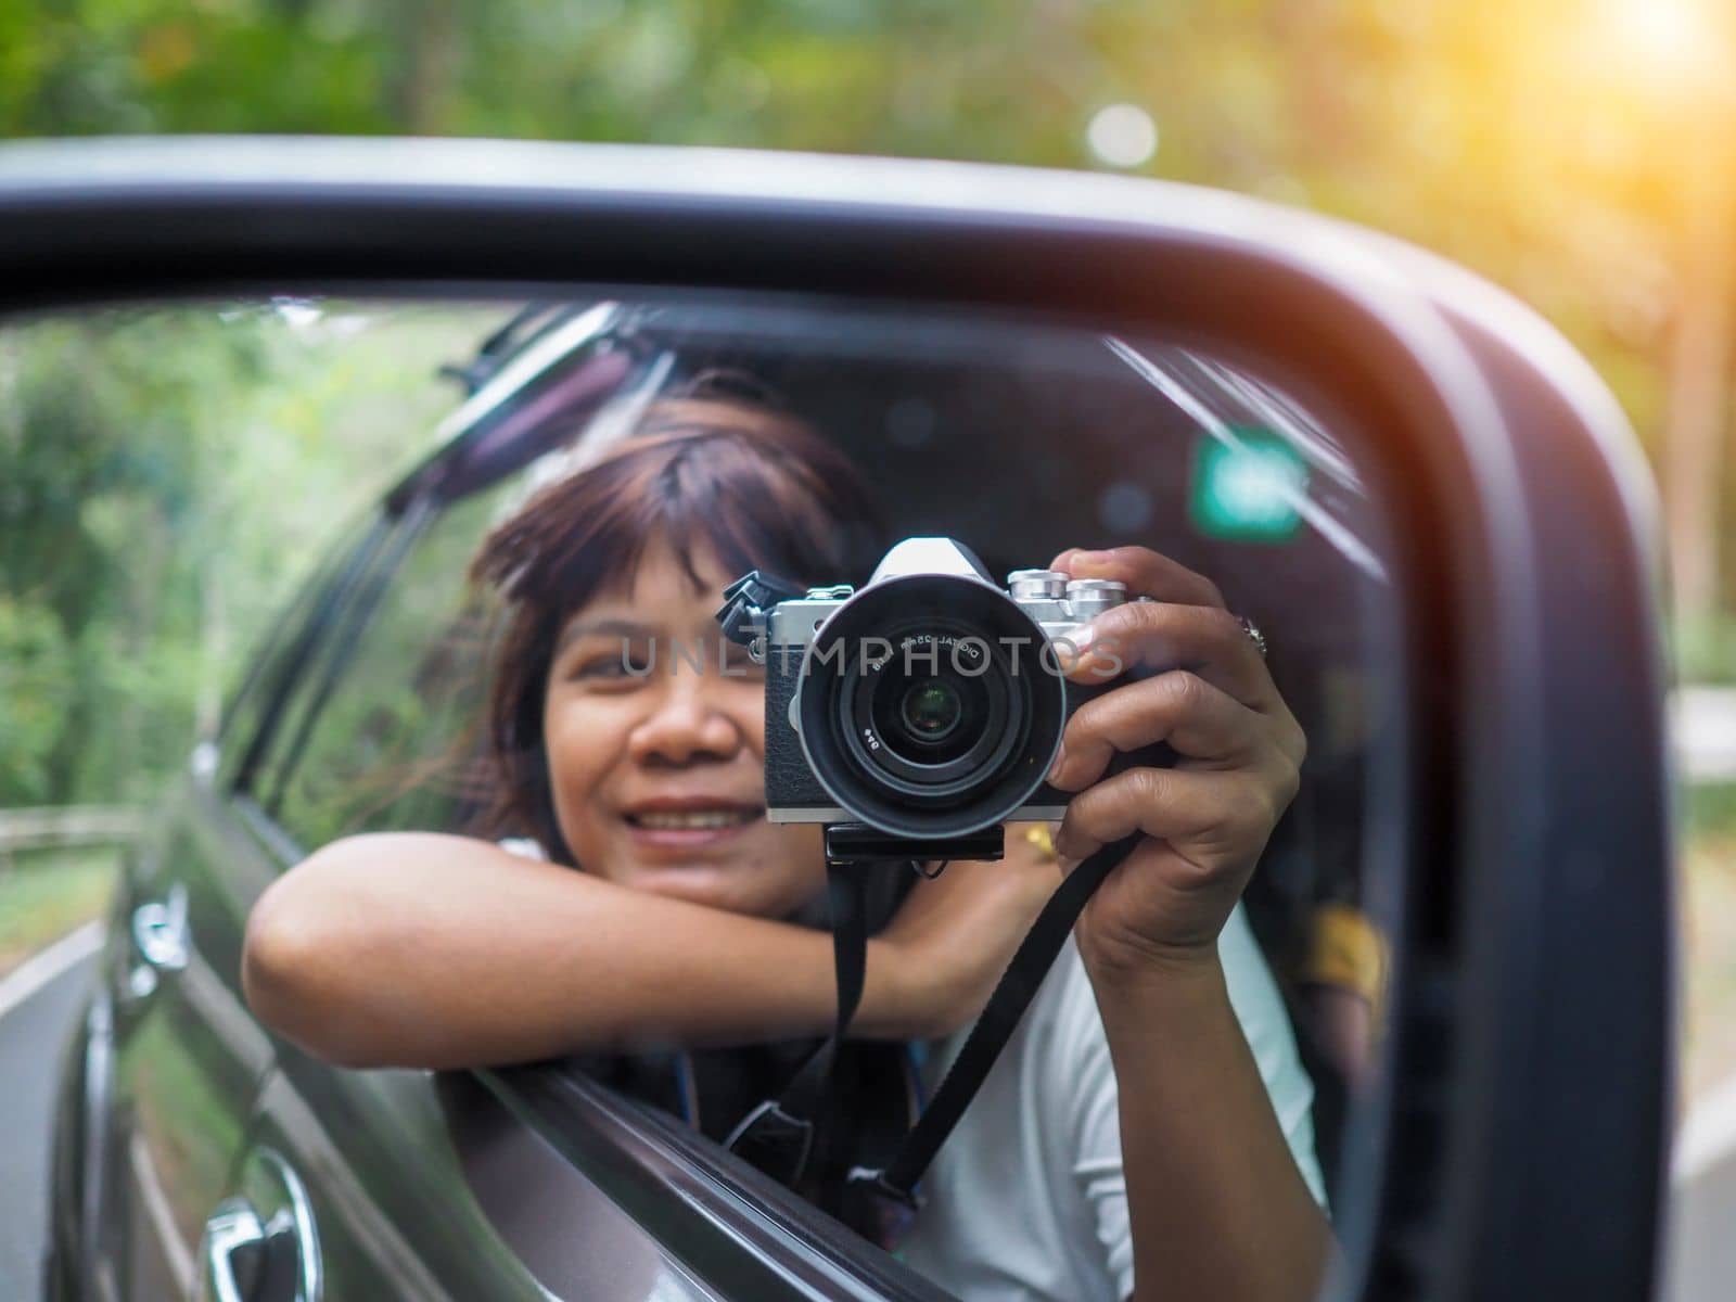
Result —
<svg viewBox="0 0 1736 1302"><path fill-rule="evenodd" d="M861 1035L941 1035L981 1009L1055 882L1012 866L915 887L868 944ZM434 833L339 840L278 878L248 920L243 984L264 1023L344 1066L746 1043L835 1016L826 932Z"/></svg>

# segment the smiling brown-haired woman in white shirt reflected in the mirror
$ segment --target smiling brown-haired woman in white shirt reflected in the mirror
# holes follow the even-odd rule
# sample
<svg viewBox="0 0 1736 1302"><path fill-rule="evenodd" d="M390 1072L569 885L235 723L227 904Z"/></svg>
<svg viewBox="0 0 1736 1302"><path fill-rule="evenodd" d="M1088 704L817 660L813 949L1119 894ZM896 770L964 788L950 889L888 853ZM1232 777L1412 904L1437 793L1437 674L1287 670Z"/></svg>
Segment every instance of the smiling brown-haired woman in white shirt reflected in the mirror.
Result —
<svg viewBox="0 0 1736 1302"><path fill-rule="evenodd" d="M786 417L661 403L639 437L496 529L476 564L512 613L491 698L491 833L545 858L424 833L323 847L253 911L255 1012L352 1066L823 1033L832 944L799 922L823 884L819 833L764 818L764 679L712 616L748 568L859 582L878 538L856 484ZM948 1036L981 1010L1059 873L1146 833L943 1149L910 1257L972 1297L1309 1297L1330 1236L1305 1082L1283 1083L1288 1031L1274 1052L1271 1026L1252 1024L1281 1026L1281 1014L1233 915L1295 790L1300 729L1207 580L1144 549L1069 550L1054 568L1154 597L1101 616L1101 651L1115 639L1123 661L1189 670L1073 717L1052 781L1075 799L1052 856L1010 835L1005 863L918 882L870 943L852 1033ZM677 642L717 670L634 672ZM1075 672L1102 663L1087 646ZM1158 740L1184 757L1175 769L1102 778L1115 750ZM1250 1043L1266 1045L1259 1061ZM1092 1075L1085 1113L983 1132L1000 1115L996 1080L1017 1095L1045 1062L1055 1075L1059 1052ZM1055 1161L1080 1187L1045 1180ZM996 1238L965 1203L1007 1184L1043 1224L1002 1224ZM1059 1262L1016 1252L1045 1243Z"/></svg>

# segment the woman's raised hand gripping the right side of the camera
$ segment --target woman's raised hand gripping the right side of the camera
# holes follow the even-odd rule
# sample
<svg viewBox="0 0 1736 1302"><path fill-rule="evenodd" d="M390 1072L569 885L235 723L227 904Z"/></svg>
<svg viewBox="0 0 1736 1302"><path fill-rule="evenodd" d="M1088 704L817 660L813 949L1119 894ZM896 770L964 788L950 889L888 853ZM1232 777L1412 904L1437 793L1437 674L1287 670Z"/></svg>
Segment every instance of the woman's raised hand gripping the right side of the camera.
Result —
<svg viewBox="0 0 1736 1302"><path fill-rule="evenodd" d="M1085 908L1080 953L1097 972L1215 963L1217 934L1297 792L1307 741L1210 580L1144 547L1068 550L1052 568L1153 597L1099 615L1069 672L1087 684L1116 660L1151 672L1080 707L1050 774L1075 793L1055 838L1066 870L1144 833ZM1175 750L1174 767L1102 776L1115 752L1158 741Z"/></svg>

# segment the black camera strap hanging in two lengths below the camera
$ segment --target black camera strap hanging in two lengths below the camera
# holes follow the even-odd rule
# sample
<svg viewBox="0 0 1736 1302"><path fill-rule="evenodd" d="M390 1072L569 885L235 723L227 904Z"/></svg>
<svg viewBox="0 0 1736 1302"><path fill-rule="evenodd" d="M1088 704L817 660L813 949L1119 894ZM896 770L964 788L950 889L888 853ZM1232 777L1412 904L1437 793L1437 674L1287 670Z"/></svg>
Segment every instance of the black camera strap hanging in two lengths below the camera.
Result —
<svg viewBox="0 0 1736 1302"><path fill-rule="evenodd" d="M1043 977L1066 944L1073 924L1102 885L1104 878L1139 844L1142 833L1134 833L1104 845L1080 863L1061 882L1043 904L1036 922L1019 943L1012 962L1002 974L995 993L965 1036L929 1106L904 1135L898 1151L882 1168L854 1167L847 1174L851 1184L865 1184L875 1193L906 1208L920 1207L915 1187L927 1172L941 1144L958 1125L970 1099L976 1097L990 1068L1012 1038L1024 1010L1036 998ZM868 965L868 930L865 908L865 873L861 865L830 863L826 868L833 910L833 962L838 979L838 1016L832 1038L823 1043L802 1069L792 1078L779 1099L769 1099L755 1108L736 1127L726 1146L752 1161L767 1175L786 1186L795 1186L807 1174L809 1158L816 1147L816 1134L823 1130L818 1118L832 1095L832 1076L838 1049L861 1002ZM825 1141L821 1141L823 1144Z"/></svg>

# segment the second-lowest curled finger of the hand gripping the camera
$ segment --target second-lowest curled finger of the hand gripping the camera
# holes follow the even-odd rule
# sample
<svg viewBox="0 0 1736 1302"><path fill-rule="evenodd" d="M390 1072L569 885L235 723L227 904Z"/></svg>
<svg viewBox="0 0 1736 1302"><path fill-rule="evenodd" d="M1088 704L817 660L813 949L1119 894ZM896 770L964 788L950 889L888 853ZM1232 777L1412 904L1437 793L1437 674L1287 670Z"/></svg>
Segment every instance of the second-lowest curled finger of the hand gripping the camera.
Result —
<svg viewBox="0 0 1736 1302"><path fill-rule="evenodd" d="M1115 752L1158 741L1210 767L1255 764L1278 746L1260 715L1200 675L1170 670L1116 687L1075 710L1049 781L1062 792L1085 790L1109 767Z"/></svg>

